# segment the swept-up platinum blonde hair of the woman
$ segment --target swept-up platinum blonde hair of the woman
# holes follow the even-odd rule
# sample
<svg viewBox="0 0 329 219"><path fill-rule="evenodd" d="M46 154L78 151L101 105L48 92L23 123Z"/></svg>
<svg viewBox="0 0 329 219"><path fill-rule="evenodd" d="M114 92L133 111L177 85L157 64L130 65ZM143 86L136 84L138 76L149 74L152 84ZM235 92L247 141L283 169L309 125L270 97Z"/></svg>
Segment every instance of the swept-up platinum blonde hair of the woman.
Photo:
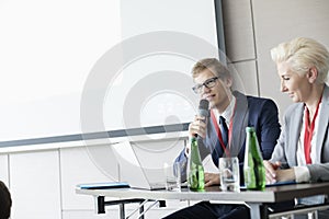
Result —
<svg viewBox="0 0 329 219"><path fill-rule="evenodd" d="M329 71L329 53L327 48L315 39L297 37L291 42L279 44L271 49L272 60L286 61L291 70L306 73L315 67L318 71L317 82L325 83Z"/></svg>

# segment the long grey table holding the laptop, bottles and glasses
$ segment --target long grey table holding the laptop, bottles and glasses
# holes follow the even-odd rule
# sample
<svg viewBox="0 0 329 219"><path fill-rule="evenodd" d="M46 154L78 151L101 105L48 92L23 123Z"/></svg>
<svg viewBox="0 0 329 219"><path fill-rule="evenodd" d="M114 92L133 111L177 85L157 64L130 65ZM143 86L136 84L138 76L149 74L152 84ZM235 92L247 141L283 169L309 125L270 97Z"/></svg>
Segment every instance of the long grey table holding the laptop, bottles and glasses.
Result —
<svg viewBox="0 0 329 219"><path fill-rule="evenodd" d="M104 197L115 197L126 200L211 200L226 203L245 201L250 206L252 219L268 218L266 204L292 200L294 198L313 195L329 194L329 183L293 184L266 187L264 191L241 191L240 193L222 192L219 186L207 187L205 192L191 192L188 188L182 192L171 191L146 191L137 188L115 188L115 189L76 189L77 194L91 195L95 197L97 209L103 210L105 207ZM120 200L118 200L120 201ZM100 212L100 211L98 211ZM122 217L123 218L123 217Z"/></svg>

